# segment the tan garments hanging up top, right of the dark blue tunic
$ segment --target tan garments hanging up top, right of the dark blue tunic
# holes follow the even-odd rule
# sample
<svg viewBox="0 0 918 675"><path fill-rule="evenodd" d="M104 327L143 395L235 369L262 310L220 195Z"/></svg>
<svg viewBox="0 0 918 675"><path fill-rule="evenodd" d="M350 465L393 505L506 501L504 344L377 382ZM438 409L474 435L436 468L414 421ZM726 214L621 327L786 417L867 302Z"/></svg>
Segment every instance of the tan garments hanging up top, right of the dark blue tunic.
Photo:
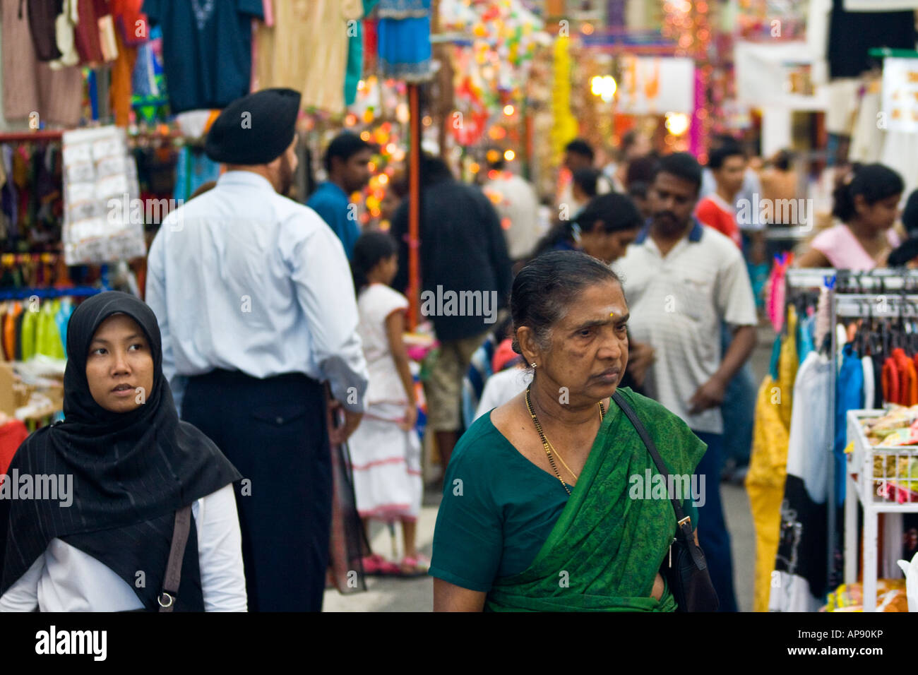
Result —
<svg viewBox="0 0 918 675"><path fill-rule="evenodd" d="M361 0L286 0L274 3L274 27L259 24L258 86L302 92L301 107L344 110L348 21L364 16Z"/></svg>

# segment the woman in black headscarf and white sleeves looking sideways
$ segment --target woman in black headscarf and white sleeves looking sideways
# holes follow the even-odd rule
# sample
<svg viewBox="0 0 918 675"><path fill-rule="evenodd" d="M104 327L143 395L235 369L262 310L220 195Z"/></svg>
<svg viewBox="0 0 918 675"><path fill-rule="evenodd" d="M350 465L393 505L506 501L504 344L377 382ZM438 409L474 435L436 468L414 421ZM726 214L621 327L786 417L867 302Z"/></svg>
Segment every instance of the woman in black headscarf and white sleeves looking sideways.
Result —
<svg viewBox="0 0 918 675"><path fill-rule="evenodd" d="M84 301L67 359L65 420L26 439L0 486L0 611L159 610L175 512L189 504L174 609L245 611L241 476L179 421L152 310L118 292Z"/></svg>

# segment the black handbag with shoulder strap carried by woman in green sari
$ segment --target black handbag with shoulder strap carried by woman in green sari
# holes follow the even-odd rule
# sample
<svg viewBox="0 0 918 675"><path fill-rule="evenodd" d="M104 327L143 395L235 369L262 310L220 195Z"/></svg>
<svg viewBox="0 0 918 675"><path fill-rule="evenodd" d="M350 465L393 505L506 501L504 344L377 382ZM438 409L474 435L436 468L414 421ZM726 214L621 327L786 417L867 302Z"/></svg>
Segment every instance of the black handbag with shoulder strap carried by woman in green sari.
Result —
<svg viewBox="0 0 918 675"><path fill-rule="evenodd" d="M625 399L621 398L618 391L612 394L612 400L618 404L638 435L641 436L644 447L647 448L657 471L666 480L668 486L670 483L666 464L657 452L650 434L644 429L644 424ZM661 570L666 576L669 591L676 599L677 612L716 612L719 606L717 592L714 591L714 585L711 583L711 574L708 572L704 552L695 542L692 534L691 518L682 511L682 506L677 500L670 498L670 501L673 504L673 511L676 512L676 536L673 537L673 543L669 546L668 563L665 560Z"/></svg>

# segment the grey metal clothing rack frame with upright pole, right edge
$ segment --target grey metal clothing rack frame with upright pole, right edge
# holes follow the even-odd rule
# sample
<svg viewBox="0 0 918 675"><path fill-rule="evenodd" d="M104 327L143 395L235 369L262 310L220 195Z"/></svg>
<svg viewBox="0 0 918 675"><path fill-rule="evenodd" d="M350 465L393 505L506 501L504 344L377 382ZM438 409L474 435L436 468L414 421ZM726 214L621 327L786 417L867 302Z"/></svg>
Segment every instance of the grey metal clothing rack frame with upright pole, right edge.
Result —
<svg viewBox="0 0 918 675"><path fill-rule="evenodd" d="M895 270L881 269L873 270L866 273L850 272L847 270L838 270L831 277L831 281L826 279L826 286L829 288L829 305L831 308L831 321L829 321L832 347L830 351L830 391L829 391L829 414L832 420L833 433L829 439L829 456L830 470L828 472L828 486L826 511L827 518L827 551L826 551L826 581L827 585L832 587L835 584L835 552L840 550L838 546L838 526L836 523L836 495L835 481L838 477L835 475L835 456L834 444L835 435L838 433L836 428L835 415L835 388L838 377L838 339L836 336L835 326L839 319L868 319L874 317L898 318L898 317L918 317L918 293L908 293L908 290L918 290L918 270ZM865 293L845 290L854 283L860 291L865 289L877 290L878 293ZM888 291L900 291L899 293ZM843 570L838 570L839 572ZM830 588L831 590L831 588Z"/></svg>

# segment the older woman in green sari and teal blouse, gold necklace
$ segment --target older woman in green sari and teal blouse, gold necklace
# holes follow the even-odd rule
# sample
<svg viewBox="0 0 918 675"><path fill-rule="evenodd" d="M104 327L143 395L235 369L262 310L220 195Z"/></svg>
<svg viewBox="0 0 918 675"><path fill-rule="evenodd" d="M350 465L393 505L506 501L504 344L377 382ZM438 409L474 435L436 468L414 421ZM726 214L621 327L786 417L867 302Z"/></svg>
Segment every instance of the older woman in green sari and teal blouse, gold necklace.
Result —
<svg viewBox="0 0 918 675"><path fill-rule="evenodd" d="M433 537L434 611L675 611L660 569L676 516L644 485L653 459L610 399L628 364L619 278L584 253L546 253L514 280L510 311L532 385L456 445ZM670 475L692 474L705 444L655 401L619 393Z"/></svg>

